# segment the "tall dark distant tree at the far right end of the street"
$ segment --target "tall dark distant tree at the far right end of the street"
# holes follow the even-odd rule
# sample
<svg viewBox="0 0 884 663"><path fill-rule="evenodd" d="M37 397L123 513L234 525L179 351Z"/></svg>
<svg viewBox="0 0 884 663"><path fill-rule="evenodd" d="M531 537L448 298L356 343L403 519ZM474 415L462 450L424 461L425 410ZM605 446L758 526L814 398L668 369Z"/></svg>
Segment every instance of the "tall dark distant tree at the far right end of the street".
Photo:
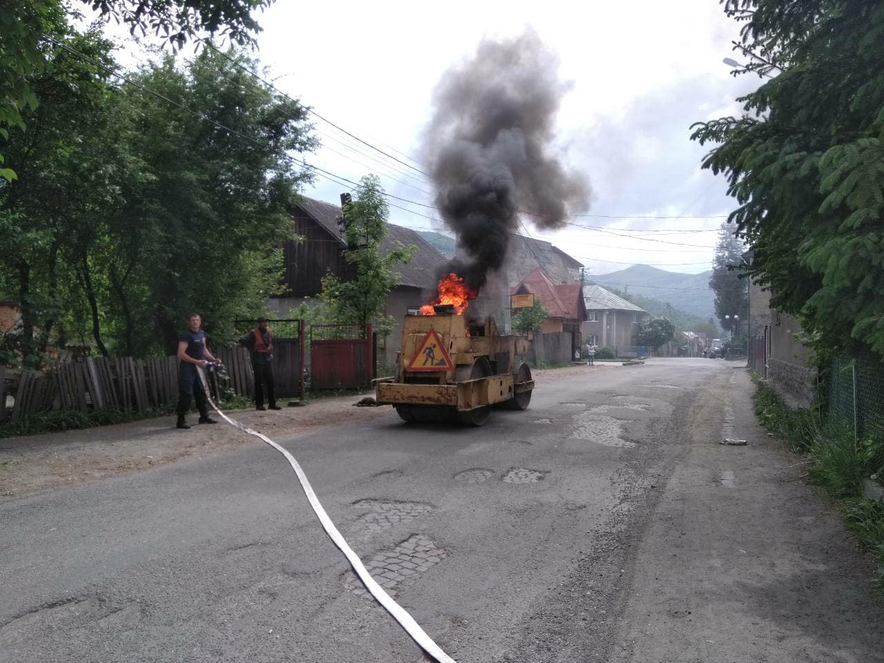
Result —
<svg viewBox="0 0 884 663"><path fill-rule="evenodd" d="M744 250L743 242L735 235L735 226L721 224L709 287L715 293L715 315L721 328L731 333L739 332L740 321L747 319L749 309L748 281L740 278L744 273L741 268Z"/></svg>

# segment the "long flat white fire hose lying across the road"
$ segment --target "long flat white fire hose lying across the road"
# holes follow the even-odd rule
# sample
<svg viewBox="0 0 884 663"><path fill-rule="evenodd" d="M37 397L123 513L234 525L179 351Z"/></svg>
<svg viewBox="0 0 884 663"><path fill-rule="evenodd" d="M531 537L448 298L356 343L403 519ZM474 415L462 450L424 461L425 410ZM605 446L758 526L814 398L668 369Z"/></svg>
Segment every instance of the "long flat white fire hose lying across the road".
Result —
<svg viewBox="0 0 884 663"><path fill-rule="evenodd" d="M220 362L206 362L206 366L209 370L216 370L221 366ZM400 626L405 629L406 633L411 636L411 639L415 641L418 646L423 649L424 652L430 654L434 659L438 661L438 663L455 663L454 659L452 659L446 652L442 651L442 648L438 646L433 639L426 634L420 625L415 621L415 619L408 614L408 612L400 606L389 594L384 591L384 588L377 584L377 581L371 574L368 569L365 568L365 565L362 564L362 560L359 559L359 556L354 552L353 548L347 544L347 541L341 536L341 533L338 531L338 528L334 526L334 523L331 522L331 518L325 512L323 505L319 502L319 498L316 497L316 492L313 491L313 486L310 485L310 482L307 478L307 475L304 473L304 470L301 469L301 464L295 460L294 456L289 453L285 448L279 446L276 442L274 442L271 438L268 438L266 435L259 433L258 431L254 431L251 428L248 428L243 423L236 421L232 417L225 415L224 412L221 411L220 408L217 407L214 400L211 398L210 389L209 389L209 379L206 375L206 371L202 366L197 366L197 370L200 374L200 380L202 381L202 387L206 392L206 398L209 400L209 403L217 414L225 420L225 422L232 425L233 428L236 428L244 433L248 433L248 435L253 435L255 438L258 438L265 442L266 444L272 446L279 453L282 453L286 457L286 461L288 464L292 466L294 470L294 474L298 477L298 481L301 484L301 489L304 491L304 495L307 497L307 501L310 504L310 507L313 508L313 512L316 514L316 517L319 519L319 522L322 524L325 533L331 538L331 542L334 545L337 545L340 552L344 553L344 556L347 558L347 561L350 562L350 566L353 567L356 575L359 576L359 579L362 580L362 583L365 585L365 589L367 589L371 596L377 600L377 602L384 606L386 611L392 615L392 618L400 623Z"/></svg>

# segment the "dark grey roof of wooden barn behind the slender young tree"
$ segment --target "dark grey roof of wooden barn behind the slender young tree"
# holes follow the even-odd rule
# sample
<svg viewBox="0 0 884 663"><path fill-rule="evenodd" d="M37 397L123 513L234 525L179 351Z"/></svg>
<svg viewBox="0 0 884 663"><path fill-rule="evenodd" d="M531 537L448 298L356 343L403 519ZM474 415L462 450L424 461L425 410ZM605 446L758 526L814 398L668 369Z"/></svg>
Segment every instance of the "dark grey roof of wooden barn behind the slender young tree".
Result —
<svg viewBox="0 0 884 663"><path fill-rule="evenodd" d="M301 196L301 201L298 202L297 206L306 212L309 217L315 219L318 224L322 225L332 237L339 239L341 246L343 246L344 240L341 239L340 227L338 225L338 219L341 215L338 205ZM448 262L446 257L410 228L402 225L387 224L386 236L381 241L381 252L387 254L392 251L396 241L400 241L405 246L414 244L417 247L417 251L415 251L415 255L410 263L400 264L396 267L396 271L400 275L399 285L435 288L437 284L436 274Z"/></svg>

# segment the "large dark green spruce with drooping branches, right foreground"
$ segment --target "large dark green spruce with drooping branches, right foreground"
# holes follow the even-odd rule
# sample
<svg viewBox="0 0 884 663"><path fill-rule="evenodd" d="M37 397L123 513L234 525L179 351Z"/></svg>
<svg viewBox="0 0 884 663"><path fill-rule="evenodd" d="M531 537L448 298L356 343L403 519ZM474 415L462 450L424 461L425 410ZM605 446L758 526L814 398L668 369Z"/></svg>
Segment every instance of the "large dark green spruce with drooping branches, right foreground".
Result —
<svg viewBox="0 0 884 663"><path fill-rule="evenodd" d="M715 146L731 214L772 305L824 347L884 356L884 4L728 0L743 20L739 74L775 76L743 115L695 126Z"/></svg>

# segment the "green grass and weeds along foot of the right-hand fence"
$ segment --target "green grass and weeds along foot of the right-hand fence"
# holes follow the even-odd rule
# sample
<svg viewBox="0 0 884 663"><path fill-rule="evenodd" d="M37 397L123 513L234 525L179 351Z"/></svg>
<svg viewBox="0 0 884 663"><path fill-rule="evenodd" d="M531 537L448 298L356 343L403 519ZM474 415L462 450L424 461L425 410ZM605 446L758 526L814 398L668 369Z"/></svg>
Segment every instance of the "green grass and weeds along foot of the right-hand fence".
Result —
<svg viewBox="0 0 884 663"><path fill-rule="evenodd" d="M878 561L875 580L884 591L884 505L863 497L863 480L881 468L884 441L856 440L847 425L822 422L810 409L789 409L777 392L758 380L752 404L758 421L807 459L807 477L842 504L842 514L865 550Z"/></svg>

